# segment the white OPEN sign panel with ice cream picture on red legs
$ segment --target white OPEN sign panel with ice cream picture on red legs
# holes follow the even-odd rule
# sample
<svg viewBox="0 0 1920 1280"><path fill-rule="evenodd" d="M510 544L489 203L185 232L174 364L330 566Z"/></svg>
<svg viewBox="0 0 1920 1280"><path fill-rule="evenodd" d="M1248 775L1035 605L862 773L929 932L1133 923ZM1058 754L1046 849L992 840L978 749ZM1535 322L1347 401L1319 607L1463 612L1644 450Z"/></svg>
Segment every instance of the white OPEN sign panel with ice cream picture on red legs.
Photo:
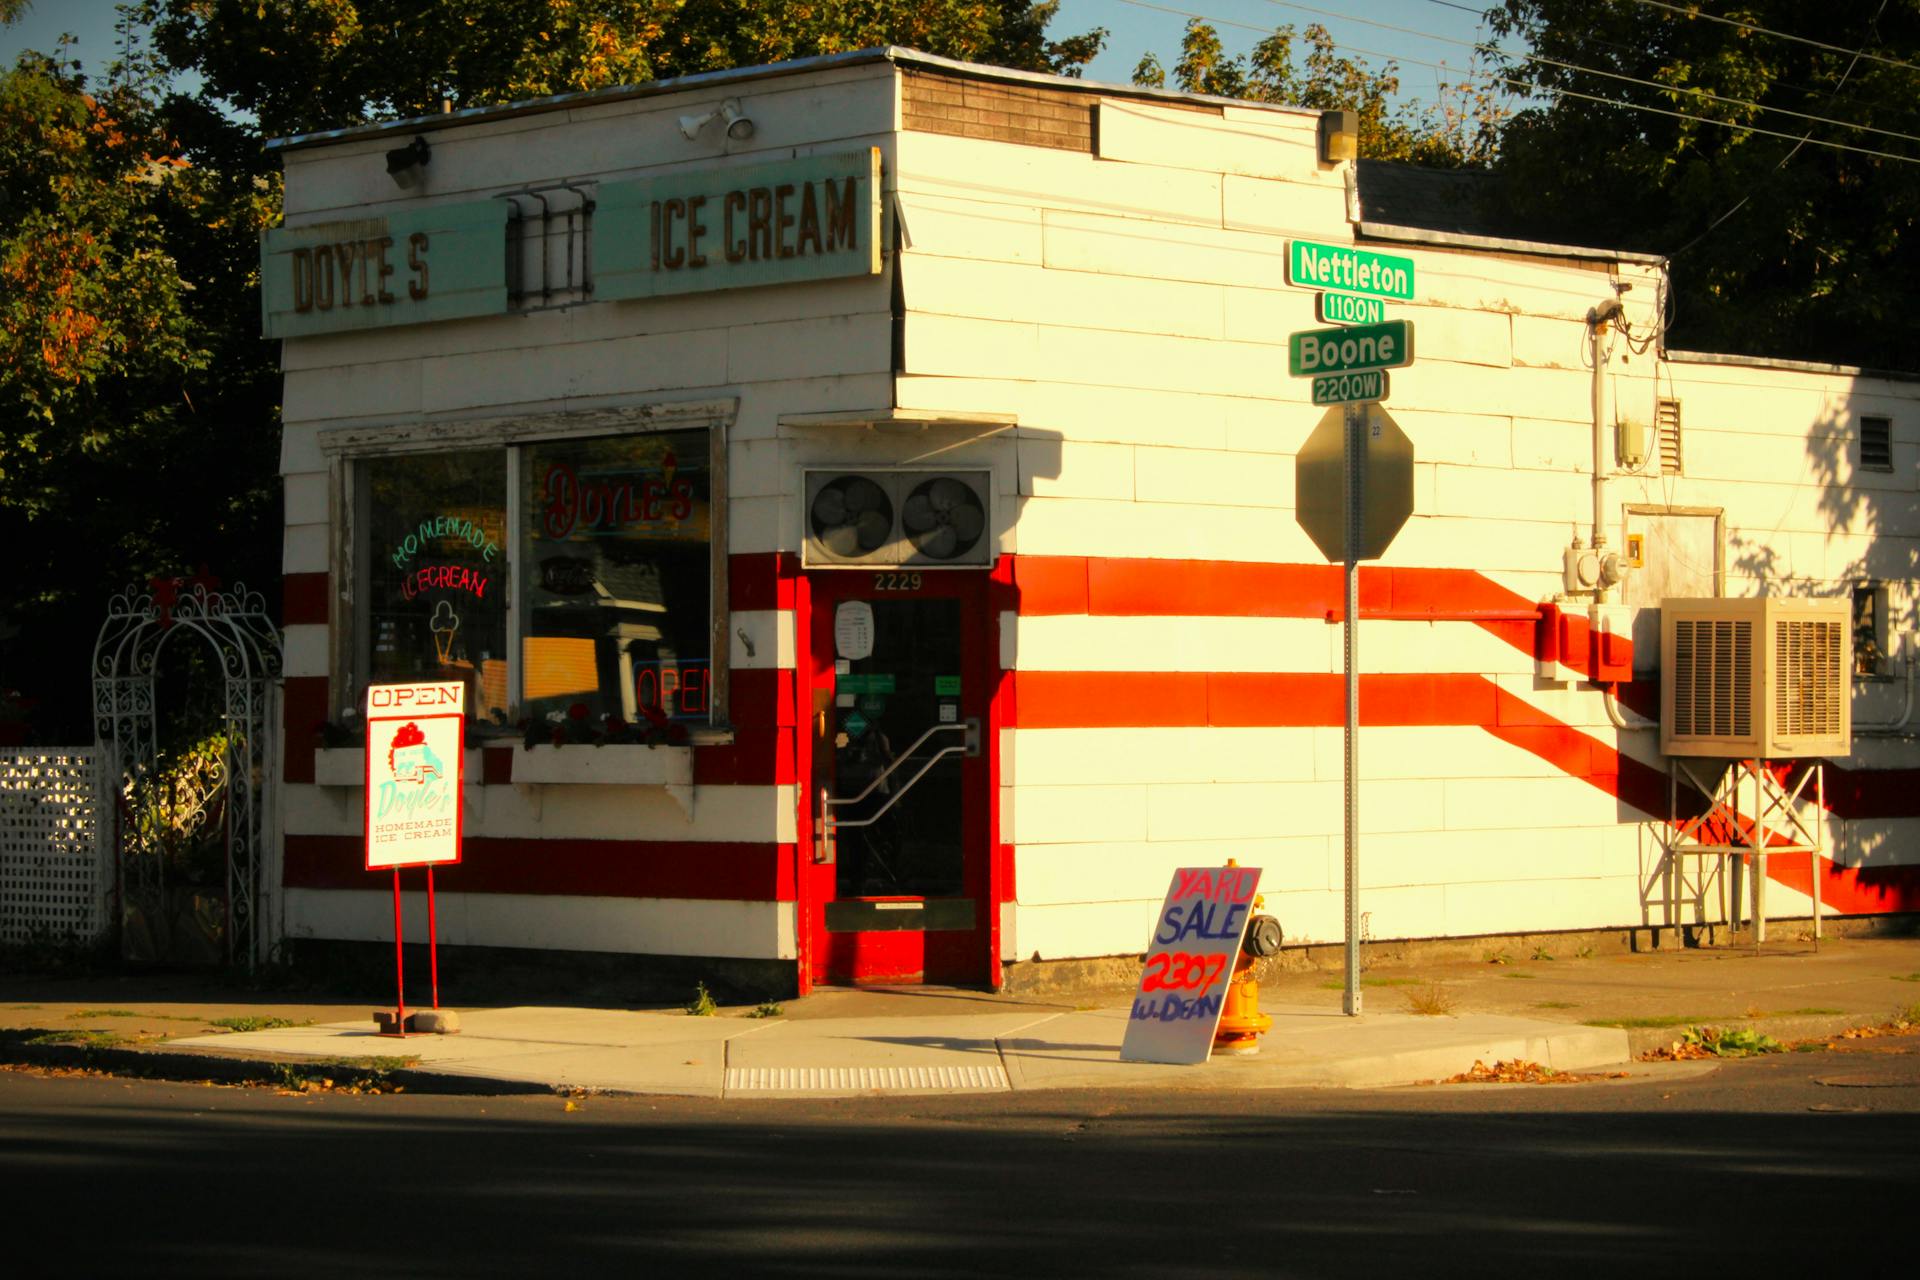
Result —
<svg viewBox="0 0 1920 1280"><path fill-rule="evenodd" d="M461 860L467 685L367 689L367 869Z"/></svg>

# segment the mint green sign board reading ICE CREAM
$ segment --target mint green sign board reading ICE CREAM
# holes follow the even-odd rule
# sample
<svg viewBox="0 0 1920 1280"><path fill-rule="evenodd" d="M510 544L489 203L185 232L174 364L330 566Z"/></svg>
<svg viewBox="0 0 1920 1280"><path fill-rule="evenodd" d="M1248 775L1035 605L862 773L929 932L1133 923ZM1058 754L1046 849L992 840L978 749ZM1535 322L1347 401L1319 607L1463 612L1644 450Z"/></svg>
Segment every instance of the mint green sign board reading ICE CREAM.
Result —
<svg viewBox="0 0 1920 1280"><path fill-rule="evenodd" d="M607 182L593 296L662 297L879 273L879 148Z"/></svg>

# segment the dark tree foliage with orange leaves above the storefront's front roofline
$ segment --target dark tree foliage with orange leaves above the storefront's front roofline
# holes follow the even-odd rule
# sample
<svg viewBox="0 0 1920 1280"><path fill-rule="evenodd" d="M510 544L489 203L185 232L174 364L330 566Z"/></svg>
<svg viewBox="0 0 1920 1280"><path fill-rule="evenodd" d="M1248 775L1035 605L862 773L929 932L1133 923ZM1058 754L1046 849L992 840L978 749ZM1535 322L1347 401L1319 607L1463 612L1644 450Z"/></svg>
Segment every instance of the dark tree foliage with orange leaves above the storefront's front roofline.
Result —
<svg viewBox="0 0 1920 1280"><path fill-rule="evenodd" d="M146 0L156 42L267 136L877 44L1075 75L1058 0Z"/></svg>

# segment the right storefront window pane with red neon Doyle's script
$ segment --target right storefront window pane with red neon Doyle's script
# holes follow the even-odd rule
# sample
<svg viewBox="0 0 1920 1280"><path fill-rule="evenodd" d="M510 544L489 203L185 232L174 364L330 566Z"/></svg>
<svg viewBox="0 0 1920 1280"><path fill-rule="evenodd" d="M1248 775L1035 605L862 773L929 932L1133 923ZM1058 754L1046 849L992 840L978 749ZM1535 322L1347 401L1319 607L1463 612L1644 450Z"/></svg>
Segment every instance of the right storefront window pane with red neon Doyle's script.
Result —
<svg viewBox="0 0 1920 1280"><path fill-rule="evenodd" d="M705 722L712 697L708 434L526 445L526 712Z"/></svg>

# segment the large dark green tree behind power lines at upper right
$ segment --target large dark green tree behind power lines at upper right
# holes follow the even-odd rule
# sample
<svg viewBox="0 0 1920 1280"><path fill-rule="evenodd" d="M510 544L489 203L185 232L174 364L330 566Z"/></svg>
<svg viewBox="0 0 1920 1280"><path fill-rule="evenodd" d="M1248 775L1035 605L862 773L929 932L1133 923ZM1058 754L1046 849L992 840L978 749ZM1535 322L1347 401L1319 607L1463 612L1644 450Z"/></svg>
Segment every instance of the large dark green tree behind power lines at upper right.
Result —
<svg viewBox="0 0 1920 1280"><path fill-rule="evenodd" d="M1705 6L1490 10L1524 46L1501 71L1532 86L1501 140L1503 209L1544 240L1670 255L1672 345L1920 368L1920 0L1726 15L1745 25Z"/></svg>

